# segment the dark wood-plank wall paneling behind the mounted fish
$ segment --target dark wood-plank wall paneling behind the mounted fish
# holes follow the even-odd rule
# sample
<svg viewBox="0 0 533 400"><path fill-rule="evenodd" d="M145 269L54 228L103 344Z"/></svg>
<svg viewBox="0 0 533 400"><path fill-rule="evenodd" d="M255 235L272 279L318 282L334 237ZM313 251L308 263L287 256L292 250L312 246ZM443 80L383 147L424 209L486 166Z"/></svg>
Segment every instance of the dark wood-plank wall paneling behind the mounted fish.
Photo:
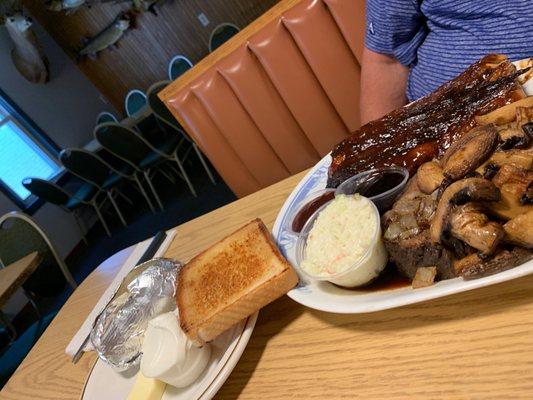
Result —
<svg viewBox="0 0 533 400"><path fill-rule="evenodd" d="M168 0L158 16L144 12L118 43L118 50L104 50L97 60L82 60L79 68L98 90L118 109L123 110L126 93L133 88L146 90L157 81L167 79L169 60L176 54L197 63L208 55L211 31L220 23L231 22L244 28L278 0ZM57 43L76 59L82 37L92 37L109 25L129 2L95 1L65 15L46 9L42 0L24 0L30 14ZM198 14L209 19L203 27ZM52 77L53 79L53 77Z"/></svg>

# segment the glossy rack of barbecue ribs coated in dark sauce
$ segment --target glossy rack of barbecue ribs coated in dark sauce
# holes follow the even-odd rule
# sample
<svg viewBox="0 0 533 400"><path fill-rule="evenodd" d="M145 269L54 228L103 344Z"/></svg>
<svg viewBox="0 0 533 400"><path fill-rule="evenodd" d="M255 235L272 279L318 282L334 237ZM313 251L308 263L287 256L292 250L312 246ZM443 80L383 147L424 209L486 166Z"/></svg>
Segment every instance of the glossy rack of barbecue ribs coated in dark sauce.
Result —
<svg viewBox="0 0 533 400"><path fill-rule="evenodd" d="M389 165L411 173L439 158L487 114L526 97L518 70L502 55L487 55L435 92L372 121L332 151L328 187L352 175Z"/></svg>

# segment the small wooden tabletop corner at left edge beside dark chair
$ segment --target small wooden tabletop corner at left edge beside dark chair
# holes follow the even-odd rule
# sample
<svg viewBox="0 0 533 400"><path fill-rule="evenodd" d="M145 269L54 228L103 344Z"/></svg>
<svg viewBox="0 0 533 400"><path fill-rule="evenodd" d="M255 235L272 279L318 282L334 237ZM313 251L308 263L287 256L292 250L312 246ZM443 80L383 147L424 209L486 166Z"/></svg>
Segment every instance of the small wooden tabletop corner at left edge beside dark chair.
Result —
<svg viewBox="0 0 533 400"><path fill-rule="evenodd" d="M0 307L13 296L39 266L41 257L34 251L27 256L0 268Z"/></svg>

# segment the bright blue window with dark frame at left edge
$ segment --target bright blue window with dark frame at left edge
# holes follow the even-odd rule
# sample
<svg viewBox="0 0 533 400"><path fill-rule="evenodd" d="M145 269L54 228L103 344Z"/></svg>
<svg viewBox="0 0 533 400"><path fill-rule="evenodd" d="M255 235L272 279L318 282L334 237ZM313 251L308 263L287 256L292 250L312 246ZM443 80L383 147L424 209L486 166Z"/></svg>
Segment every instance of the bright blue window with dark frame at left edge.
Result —
<svg viewBox="0 0 533 400"><path fill-rule="evenodd" d="M23 209L35 201L22 185L25 178L52 180L61 172L59 162L38 134L31 121L0 93L0 186Z"/></svg>

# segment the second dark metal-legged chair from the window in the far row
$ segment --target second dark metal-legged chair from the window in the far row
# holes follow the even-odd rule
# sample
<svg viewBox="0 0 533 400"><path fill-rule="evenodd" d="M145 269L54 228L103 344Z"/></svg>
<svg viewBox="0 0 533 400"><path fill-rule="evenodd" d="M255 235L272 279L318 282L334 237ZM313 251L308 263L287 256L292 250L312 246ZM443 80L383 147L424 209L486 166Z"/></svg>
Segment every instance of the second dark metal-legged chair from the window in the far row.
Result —
<svg viewBox="0 0 533 400"><path fill-rule="evenodd" d="M78 178L96 186L99 191L106 193L107 198L117 212L120 221L126 226L124 215L120 211L114 194L119 194L117 186L125 176L107 164L96 154L83 149L65 149L59 153L59 160L63 166ZM124 196L123 196L124 197ZM124 197L127 201L131 201Z"/></svg>

